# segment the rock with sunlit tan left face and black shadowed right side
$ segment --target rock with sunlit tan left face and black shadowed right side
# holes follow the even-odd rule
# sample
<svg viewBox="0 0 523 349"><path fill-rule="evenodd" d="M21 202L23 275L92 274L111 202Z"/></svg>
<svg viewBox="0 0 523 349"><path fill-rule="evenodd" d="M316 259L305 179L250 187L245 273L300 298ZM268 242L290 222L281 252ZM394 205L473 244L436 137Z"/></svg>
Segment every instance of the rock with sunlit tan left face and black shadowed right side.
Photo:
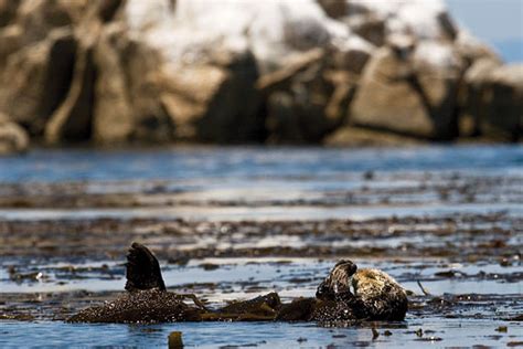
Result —
<svg viewBox="0 0 523 349"><path fill-rule="evenodd" d="M177 139L246 142L264 138L258 70L249 52L224 53L207 62L166 66L162 102Z"/></svg>

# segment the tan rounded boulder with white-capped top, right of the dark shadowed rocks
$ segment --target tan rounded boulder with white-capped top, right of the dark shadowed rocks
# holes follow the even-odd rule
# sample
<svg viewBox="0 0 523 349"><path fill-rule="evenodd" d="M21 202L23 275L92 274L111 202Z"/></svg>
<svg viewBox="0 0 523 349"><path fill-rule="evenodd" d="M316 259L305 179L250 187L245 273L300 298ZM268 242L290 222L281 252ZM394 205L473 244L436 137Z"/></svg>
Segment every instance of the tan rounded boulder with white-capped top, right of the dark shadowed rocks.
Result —
<svg viewBox="0 0 523 349"><path fill-rule="evenodd" d="M439 59L433 60L436 53ZM365 67L350 121L420 138L453 138L460 74L459 56L449 45L382 47Z"/></svg>

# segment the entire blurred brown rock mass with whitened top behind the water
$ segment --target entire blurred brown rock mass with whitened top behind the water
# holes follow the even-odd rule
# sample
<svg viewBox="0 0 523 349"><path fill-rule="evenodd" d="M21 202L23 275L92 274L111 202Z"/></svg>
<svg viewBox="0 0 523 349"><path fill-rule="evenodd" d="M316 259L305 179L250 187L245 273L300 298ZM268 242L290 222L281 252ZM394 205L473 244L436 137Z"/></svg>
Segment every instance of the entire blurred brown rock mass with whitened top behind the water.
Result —
<svg viewBox="0 0 523 349"><path fill-rule="evenodd" d="M439 0L0 0L0 152L519 141L523 65Z"/></svg>

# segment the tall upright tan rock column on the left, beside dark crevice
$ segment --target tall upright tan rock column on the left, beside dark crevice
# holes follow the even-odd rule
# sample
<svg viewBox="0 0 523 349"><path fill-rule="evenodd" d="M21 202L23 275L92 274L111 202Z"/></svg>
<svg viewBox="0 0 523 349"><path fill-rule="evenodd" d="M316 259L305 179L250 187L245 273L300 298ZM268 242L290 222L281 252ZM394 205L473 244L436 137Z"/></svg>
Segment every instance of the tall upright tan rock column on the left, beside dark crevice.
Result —
<svg viewBox="0 0 523 349"><path fill-rule="evenodd" d="M159 98L161 59L156 50L127 35L121 23L113 23L100 34L95 64L95 142L172 140L172 120Z"/></svg>

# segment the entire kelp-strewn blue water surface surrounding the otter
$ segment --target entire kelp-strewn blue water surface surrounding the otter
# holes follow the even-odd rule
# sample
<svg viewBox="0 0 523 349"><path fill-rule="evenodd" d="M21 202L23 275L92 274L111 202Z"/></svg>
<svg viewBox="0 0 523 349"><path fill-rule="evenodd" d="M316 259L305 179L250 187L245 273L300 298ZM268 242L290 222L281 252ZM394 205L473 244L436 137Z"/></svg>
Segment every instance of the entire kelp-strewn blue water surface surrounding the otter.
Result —
<svg viewBox="0 0 523 349"><path fill-rule="evenodd" d="M212 306L312 296L345 257L394 276L412 308L357 327L65 324L118 296L131 241ZM36 150L0 158L0 347L164 346L173 330L204 348L513 346L522 251L521 146Z"/></svg>

